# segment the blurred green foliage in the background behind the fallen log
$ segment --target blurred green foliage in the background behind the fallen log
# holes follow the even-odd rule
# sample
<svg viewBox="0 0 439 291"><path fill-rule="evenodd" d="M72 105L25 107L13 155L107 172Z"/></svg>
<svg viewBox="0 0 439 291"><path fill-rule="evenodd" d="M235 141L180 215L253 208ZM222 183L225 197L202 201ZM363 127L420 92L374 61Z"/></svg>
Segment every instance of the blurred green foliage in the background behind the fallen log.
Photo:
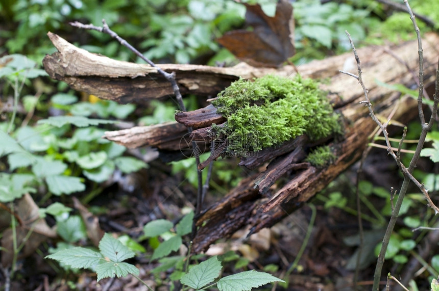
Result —
<svg viewBox="0 0 439 291"><path fill-rule="evenodd" d="M253 2L260 3L267 14L274 14L276 1ZM397 43L414 38L407 14L389 13L372 0L326 4L318 0L302 0L293 5L297 54L291 61L297 64L348 50L345 30L351 33L357 46ZM415 11L435 20L435 29L438 28L439 2L411 0L410 5ZM235 58L220 47L215 38L229 30L242 28L244 15L245 8L230 0L0 0L0 57L3 57L0 60L0 101L2 105L10 101L20 109L15 113L4 111L0 116L0 155L3 156L0 160L0 202L7 203L31 193L39 201L41 217L53 216L58 226L62 241L50 252L72 248L84 242L87 233L81 217L61 203L66 201L66 195L79 192L83 202L87 203L100 194L105 182L116 171L125 175L148 167L138 158L129 156L124 147L103 140L103 132L114 129L112 124L120 120L139 125L173 120L176 108L170 101L153 101L148 108L139 109L133 104L92 100L90 96L70 90L62 82L50 80L40 68L44 55L56 50L46 36L48 31L89 51L137 62L130 51L108 35L68 25L70 21L101 25L105 18L112 30L157 63L215 65L216 62L226 62L232 65L236 63ZM421 21L418 24L422 33L431 30ZM12 62L9 62L10 58ZM198 108L196 97L185 99L189 108ZM416 136L410 138L416 139ZM432 147L426 148L423 155L431 156L437 162L439 138L437 133L429 138ZM173 174L184 175L182 178L196 185L193 160L176 162L172 167ZM216 177L211 187L219 193L227 193L227 189L239 181L239 170L231 170L228 162L216 163L215 167ZM421 170L415 174L426 188L438 190L438 175ZM360 190L362 202L368 207L365 219L377 229L383 227L384 217L389 215L392 207L387 199L388 191L368 183L362 183ZM327 191L328 195L318 196L325 209L338 207L355 214L350 206L353 201L347 199L349 195L331 187ZM372 205L368 200L374 196L387 199L385 205ZM405 263L413 244L419 242L408 228L435 222L428 211L424 216L418 215L416 209L425 207L422 196L413 193L407 197L403 204L403 225L393 235L393 251L388 254L388 258L397 263ZM168 250L177 250L181 246L182 237L187 232L178 229L169 232L170 228L142 239L148 239L148 247L154 250L153 257L161 258L161 265L154 272L166 271L178 262L180 273L173 273L173 278L178 280L183 276L184 257L166 255ZM166 239L165 242L171 241L160 243L159 235L163 235L161 239ZM146 252L140 245L141 240L119 238L119 241L123 240L131 250ZM110 241L119 246L114 240ZM167 248L171 243L172 247ZM132 255L130 250L124 248L124 251ZM101 253L89 253L101 259ZM372 253L371 248L369 254ZM437 275L437 255L431 259L431 265L431 275ZM112 268L114 266L107 267L106 270L113 275L118 272ZM134 269L130 270L136 273Z"/></svg>

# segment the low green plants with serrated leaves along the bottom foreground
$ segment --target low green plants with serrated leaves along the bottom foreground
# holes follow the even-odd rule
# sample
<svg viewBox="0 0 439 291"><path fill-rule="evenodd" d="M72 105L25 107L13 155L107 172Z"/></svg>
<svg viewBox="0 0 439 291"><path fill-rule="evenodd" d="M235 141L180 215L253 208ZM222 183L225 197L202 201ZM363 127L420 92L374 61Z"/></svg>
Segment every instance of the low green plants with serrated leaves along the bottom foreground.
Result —
<svg viewBox="0 0 439 291"><path fill-rule="evenodd" d="M161 265L152 270L153 274L175 268L169 278L180 280L183 285L196 290L204 290L214 285L220 290L250 290L253 287L271 282L284 282L271 274L247 271L223 277L212 283L220 276L222 270L222 264L216 256L194 264L187 272L189 259L198 259L200 256L189 256L189 250L184 266L185 257L170 257L168 255L172 251L180 249L183 243L182 236L192 231L192 223L193 212L191 211L176 225L175 232L170 232L173 228L172 222L164 219L151 221L144 226L144 235L140 237L140 240L148 238L150 245L155 247L151 260L161 258L159 260ZM158 236L166 237L166 240L160 243ZM126 259L134 257L135 253L119 240L106 233L99 244L99 252L82 247L68 247L61 250L58 248L55 253L47 255L46 258L55 259L71 268L94 270L98 281L107 277L123 277L131 274L143 282L138 277L139 270L133 264L124 262ZM143 284L146 285L145 282Z"/></svg>

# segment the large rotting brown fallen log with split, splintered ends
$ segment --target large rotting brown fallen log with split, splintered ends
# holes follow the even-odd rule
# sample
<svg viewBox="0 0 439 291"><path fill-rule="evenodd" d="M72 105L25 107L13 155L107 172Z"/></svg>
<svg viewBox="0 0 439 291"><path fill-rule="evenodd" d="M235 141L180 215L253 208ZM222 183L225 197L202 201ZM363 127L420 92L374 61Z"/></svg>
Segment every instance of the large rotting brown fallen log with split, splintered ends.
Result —
<svg viewBox="0 0 439 291"><path fill-rule="evenodd" d="M158 98L172 93L172 89L164 78L161 78L156 70L149 66L118 62L93 55L76 48L56 35L50 34L49 36L59 52L46 56L43 61L44 68L52 77L68 83L72 88L119 102ZM435 34L426 35L423 39L426 84L434 78L439 55L437 43L439 43L439 37ZM389 84L403 84L407 87L416 85L416 82L412 80L405 64L401 64L386 54L385 49L388 47L372 46L357 50L362 62L363 81L369 89L375 113L386 117L394 107L397 107L393 119L404 122L417 116L416 100L411 97L400 98L398 92L378 86L375 80ZM406 42L390 49L403 59L411 70L417 71L418 46L416 41ZM294 75L294 69L289 66L278 70L253 68L248 65L231 68L196 65L161 65L161 67L166 71L176 72L182 93L206 96L216 95L239 76L251 78L269 73L286 77ZM304 164L300 158L295 157L294 153L289 154L290 151L306 143L306 140L299 141L306 137L286 142L280 147L264 149L260 152L264 155L242 160L240 165L257 168L262 163L283 155L272 162L267 172L242 180L237 188L204 211L198 218L197 224L200 230L193 240L193 251L205 250L215 240L231 235L243 226L250 225L252 232L272 226L300 207L315 193L324 189L332 179L358 160L376 124L369 117L368 109L359 103L363 99L363 92L358 81L339 73L338 70L356 73L356 63L351 52L322 61L313 61L299 67L299 72L304 77L328 80L325 82L326 85L322 85L322 89L329 92L328 97L334 108L343 116L344 135L335 137L327 143L336 155L334 164L319 169ZM184 116L183 119L186 120L198 116L187 124L204 127L209 124L210 119L207 116L212 112L204 113L206 114L203 118L200 118L198 113L186 113L181 116ZM118 137L117 142L130 146L154 145L162 149L176 149L181 146L177 141L186 134L184 125L179 125L181 127L178 127L178 130L175 129L178 126L176 123L159 126L163 126L161 132L152 126L147 129L144 127L140 129L142 128L140 127L107 133L107 138L115 140L114 137ZM168 130L167 127L174 129ZM144 137L136 136L136 130L154 138L147 139L148 142L145 142ZM208 127L195 131L199 134L207 134ZM173 144L176 146L173 147ZM275 152L276 150L278 152ZM300 149L297 151L300 152ZM290 163L297 164L288 164L285 160L287 158L290 158ZM274 170L277 169L277 165L281 166L279 171ZM275 180L281 172L285 172L288 182L276 185ZM261 189L255 184L255 179Z"/></svg>

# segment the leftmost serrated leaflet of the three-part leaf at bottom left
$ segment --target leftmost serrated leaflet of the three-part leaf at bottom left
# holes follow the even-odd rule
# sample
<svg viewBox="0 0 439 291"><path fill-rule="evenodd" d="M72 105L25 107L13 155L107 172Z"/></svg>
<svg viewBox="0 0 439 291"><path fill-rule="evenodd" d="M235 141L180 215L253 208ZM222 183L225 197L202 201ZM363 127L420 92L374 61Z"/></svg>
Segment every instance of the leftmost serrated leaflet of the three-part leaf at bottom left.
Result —
<svg viewBox="0 0 439 291"><path fill-rule="evenodd" d="M54 259L72 268L90 268L103 260L100 253L81 247L58 251L45 258Z"/></svg>

